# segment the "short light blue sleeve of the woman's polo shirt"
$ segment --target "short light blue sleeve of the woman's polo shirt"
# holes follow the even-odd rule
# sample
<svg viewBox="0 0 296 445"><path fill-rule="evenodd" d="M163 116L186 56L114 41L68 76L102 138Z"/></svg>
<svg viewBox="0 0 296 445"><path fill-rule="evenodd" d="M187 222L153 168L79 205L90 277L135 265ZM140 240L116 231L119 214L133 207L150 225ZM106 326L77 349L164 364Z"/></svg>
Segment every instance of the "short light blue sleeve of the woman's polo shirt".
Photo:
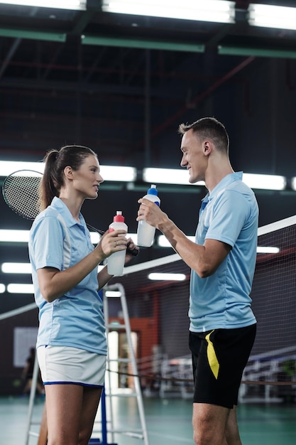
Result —
<svg viewBox="0 0 296 445"><path fill-rule="evenodd" d="M32 234L36 269L63 269L63 241L62 225L57 218L45 216L38 221Z"/></svg>

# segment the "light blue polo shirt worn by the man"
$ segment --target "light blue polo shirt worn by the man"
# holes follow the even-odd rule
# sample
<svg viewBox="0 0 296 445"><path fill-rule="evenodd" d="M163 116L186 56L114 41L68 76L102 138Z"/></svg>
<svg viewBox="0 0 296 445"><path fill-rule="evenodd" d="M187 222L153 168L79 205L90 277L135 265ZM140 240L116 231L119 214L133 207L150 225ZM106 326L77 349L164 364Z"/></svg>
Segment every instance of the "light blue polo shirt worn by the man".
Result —
<svg viewBox="0 0 296 445"><path fill-rule="evenodd" d="M251 286L256 265L258 204L243 173L225 176L202 200L195 241L219 240L231 251L216 272L200 278L192 270L190 331L242 328L256 323Z"/></svg>

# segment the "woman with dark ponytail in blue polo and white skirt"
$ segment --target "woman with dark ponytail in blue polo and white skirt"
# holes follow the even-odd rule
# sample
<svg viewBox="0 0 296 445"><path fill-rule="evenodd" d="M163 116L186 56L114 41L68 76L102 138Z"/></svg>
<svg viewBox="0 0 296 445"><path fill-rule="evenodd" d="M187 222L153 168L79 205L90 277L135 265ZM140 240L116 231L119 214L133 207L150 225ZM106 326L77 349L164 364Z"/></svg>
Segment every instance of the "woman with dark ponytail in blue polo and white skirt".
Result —
<svg viewBox="0 0 296 445"><path fill-rule="evenodd" d="M106 232L93 247L80 209L97 198L103 178L97 155L64 146L45 156L40 214L29 254L39 307L38 363L48 422L48 445L87 445L106 368L106 336L98 291L111 279L97 266L119 250L138 250L124 230ZM126 254L126 262L132 254Z"/></svg>

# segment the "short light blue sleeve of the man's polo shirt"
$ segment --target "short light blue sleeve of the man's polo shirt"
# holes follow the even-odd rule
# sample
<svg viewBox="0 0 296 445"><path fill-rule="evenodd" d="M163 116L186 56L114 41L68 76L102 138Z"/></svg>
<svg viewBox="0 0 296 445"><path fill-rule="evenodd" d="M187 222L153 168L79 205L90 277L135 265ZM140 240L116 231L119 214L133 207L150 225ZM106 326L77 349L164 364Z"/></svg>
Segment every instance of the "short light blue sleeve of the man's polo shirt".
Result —
<svg viewBox="0 0 296 445"><path fill-rule="evenodd" d="M205 239L218 240L234 247L249 214L250 206L244 195L235 190L224 191L214 204Z"/></svg>

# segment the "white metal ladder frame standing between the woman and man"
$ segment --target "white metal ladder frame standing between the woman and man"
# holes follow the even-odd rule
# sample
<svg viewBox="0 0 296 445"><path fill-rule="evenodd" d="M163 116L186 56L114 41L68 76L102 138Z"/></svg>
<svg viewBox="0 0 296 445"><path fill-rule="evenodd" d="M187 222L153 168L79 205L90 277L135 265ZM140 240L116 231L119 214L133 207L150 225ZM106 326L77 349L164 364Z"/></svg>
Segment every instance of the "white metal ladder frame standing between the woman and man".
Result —
<svg viewBox="0 0 296 445"><path fill-rule="evenodd" d="M118 295L116 295L116 297L121 299L121 308L122 308L122 313L123 313L123 318L124 318L124 324L109 323L108 299L114 298L114 296L112 296L112 297L108 296L109 291L115 291L116 294L118 294ZM108 428L108 433L111 434L111 441L114 441L114 434L117 433L117 434L124 434L125 436L130 436L130 437L133 437L136 439L142 439L144 445L149 445L147 428L146 428L146 419L145 419L144 408L143 408L143 397L142 397L140 379L138 377L136 355L133 350L133 343L132 343L132 339L131 339L131 325L130 325L129 316L128 316L128 307L126 304L126 294L124 291L124 286L119 283L114 284L114 285L105 286L103 295L104 295L103 301L104 301L104 318L105 318L105 324L106 324L106 337L108 339L108 334L109 334L110 330L115 331L115 330L124 329L126 331L126 340L128 342L128 352L129 352L129 358L118 358L116 360L114 360L114 359L112 360L111 358L109 358L109 354L107 355L106 378L108 379L109 389L108 389L108 391L106 391L106 401L109 402L109 407L110 407L110 412L111 412L110 427ZM108 350L109 350L109 348L108 348ZM133 392L130 392L128 394L121 394L118 392L116 393L112 390L111 372L109 372L108 370L110 370L111 363L114 361L116 361L118 363L131 363L133 382L134 382L134 391ZM113 414L113 406L112 406L112 398L113 397L135 397L136 398L136 401L138 404L138 414L139 414L140 422L141 422L141 429L136 430L136 431L135 430L128 431L126 429L115 429L114 428L114 421L113 421L114 414Z"/></svg>

